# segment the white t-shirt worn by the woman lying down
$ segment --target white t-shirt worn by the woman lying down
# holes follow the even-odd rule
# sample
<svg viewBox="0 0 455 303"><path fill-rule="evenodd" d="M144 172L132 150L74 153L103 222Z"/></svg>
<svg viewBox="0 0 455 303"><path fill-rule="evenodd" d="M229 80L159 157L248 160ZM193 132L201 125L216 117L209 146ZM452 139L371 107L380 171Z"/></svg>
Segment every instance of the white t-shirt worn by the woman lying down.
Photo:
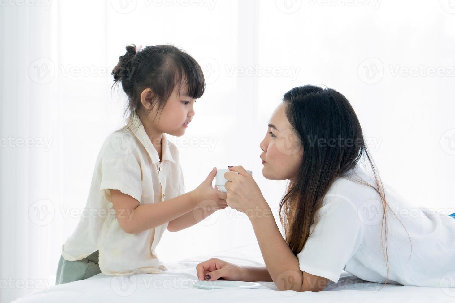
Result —
<svg viewBox="0 0 455 303"><path fill-rule="evenodd" d="M375 184L359 166L349 174ZM450 287L455 274L455 219L447 212L409 204L387 185L384 187L389 207L406 228L387 209L387 283ZM379 194L368 185L346 177L336 179L316 214L312 234L297 254L300 270L335 283L343 270L367 281L384 283L383 210ZM385 225L382 235L385 241Z"/></svg>

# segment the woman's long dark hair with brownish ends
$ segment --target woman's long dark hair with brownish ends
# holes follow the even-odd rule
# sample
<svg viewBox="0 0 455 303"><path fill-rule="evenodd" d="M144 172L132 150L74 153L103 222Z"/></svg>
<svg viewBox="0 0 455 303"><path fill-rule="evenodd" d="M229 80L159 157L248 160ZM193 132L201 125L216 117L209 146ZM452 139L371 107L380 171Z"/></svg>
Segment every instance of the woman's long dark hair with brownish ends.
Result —
<svg viewBox="0 0 455 303"><path fill-rule="evenodd" d="M298 134L303 148L303 160L297 177L294 182L288 184L286 194L279 206L286 243L294 255L303 249L310 236L312 224L317 223L315 215L321 208L330 186L339 177L351 179L352 177L346 173L363 159L365 163L369 163L376 184L373 186L358 179L355 181L376 190L384 204L381 244L384 247L382 231L385 224L384 258L387 260L385 280L387 283L389 258L385 214L386 208L390 209L390 207L385 200L384 186L378 170L364 143L362 128L354 109L343 94L334 89L323 89L313 85L289 90L283 95L283 102L286 104L286 117ZM319 141L320 139L322 140ZM334 140L336 144L318 144L318 142L335 142Z"/></svg>

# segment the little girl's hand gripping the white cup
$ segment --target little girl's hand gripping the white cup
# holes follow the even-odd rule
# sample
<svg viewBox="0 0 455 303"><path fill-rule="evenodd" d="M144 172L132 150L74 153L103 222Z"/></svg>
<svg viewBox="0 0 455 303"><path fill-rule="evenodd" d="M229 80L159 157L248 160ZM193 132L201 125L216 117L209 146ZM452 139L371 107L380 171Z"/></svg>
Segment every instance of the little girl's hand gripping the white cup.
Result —
<svg viewBox="0 0 455 303"><path fill-rule="evenodd" d="M225 209L226 204L226 193L218 190L217 186L212 187L212 181L217 175L217 168L214 167L204 182L201 183L196 189L194 189L195 199L197 208L202 207L207 209L211 207L214 209Z"/></svg>

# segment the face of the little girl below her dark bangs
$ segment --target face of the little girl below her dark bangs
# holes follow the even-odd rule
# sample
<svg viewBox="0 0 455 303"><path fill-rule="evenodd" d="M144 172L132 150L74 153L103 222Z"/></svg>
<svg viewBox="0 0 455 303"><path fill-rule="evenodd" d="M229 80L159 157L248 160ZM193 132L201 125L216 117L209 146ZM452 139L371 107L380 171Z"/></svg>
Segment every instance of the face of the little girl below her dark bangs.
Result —
<svg viewBox="0 0 455 303"><path fill-rule="evenodd" d="M190 124L194 112L194 103L196 99L188 97L185 85L180 85L174 88L169 100L162 109L161 114L152 121L154 129L161 133L170 134L172 136L180 137L185 134L185 131ZM157 106L152 110L150 117L153 119L157 112Z"/></svg>

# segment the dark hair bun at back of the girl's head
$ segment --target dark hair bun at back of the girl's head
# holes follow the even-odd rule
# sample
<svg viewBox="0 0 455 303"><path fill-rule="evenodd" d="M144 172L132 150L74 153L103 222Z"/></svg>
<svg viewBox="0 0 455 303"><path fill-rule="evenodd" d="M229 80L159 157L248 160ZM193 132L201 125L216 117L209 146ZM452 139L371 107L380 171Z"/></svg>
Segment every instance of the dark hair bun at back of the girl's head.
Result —
<svg viewBox="0 0 455 303"><path fill-rule="evenodd" d="M117 65L112 69L114 83L121 82L121 86L125 93L131 97L133 95L133 72L135 70L133 59L136 56L136 45L131 44L126 46L125 55L119 57Z"/></svg>

